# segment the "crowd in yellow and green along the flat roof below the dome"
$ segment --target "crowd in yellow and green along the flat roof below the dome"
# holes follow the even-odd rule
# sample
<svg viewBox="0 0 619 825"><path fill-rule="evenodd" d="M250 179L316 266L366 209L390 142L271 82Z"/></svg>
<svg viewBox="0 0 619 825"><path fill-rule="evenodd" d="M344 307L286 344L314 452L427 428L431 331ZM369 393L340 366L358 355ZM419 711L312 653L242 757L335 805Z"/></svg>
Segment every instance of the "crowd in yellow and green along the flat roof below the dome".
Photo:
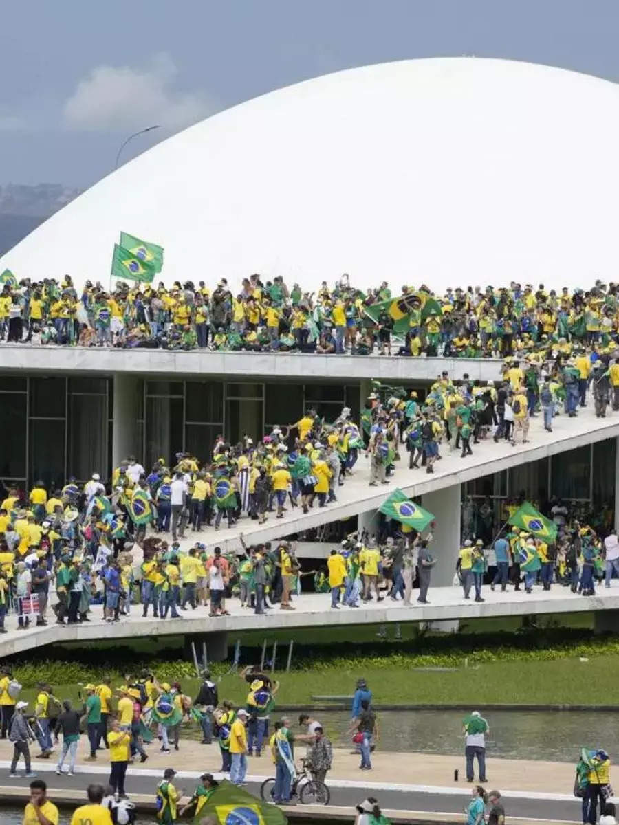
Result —
<svg viewBox="0 0 619 825"><path fill-rule="evenodd" d="M7 278L0 337L83 347L350 352L400 356L524 356L574 345L616 346L617 285L548 290L512 282L435 294L428 285L392 292L386 281L360 290L343 275L317 292L281 276L252 275L239 290L225 279L166 287Z"/></svg>

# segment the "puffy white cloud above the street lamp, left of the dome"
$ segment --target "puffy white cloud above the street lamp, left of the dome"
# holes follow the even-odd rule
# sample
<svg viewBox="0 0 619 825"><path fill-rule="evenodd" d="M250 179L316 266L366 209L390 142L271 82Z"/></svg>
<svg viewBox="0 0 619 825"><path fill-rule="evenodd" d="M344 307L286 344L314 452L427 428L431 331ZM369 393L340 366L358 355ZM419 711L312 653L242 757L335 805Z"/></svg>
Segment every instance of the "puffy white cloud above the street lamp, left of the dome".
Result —
<svg viewBox="0 0 619 825"><path fill-rule="evenodd" d="M202 92L173 88L177 67L158 54L146 68L97 66L64 104L64 122L79 130L179 130L215 111Z"/></svg>

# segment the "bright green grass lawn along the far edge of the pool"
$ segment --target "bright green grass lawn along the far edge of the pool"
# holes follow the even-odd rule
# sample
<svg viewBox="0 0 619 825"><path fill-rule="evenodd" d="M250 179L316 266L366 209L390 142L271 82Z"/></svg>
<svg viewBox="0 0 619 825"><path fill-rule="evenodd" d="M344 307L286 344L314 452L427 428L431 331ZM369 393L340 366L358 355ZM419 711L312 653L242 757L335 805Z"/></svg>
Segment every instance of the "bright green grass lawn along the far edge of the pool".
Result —
<svg viewBox="0 0 619 825"><path fill-rule="evenodd" d="M100 674L93 672L92 676ZM352 695L355 681L364 676L376 704L565 704L594 705L617 694L619 656L600 656L588 662L578 658L550 662L489 662L453 672L414 670L410 667L361 667L354 671L309 668L280 673L278 705L310 705L313 695ZM114 682L120 686L120 679ZM199 681L182 679L182 689L194 695ZM224 676L220 699L243 703L247 686L239 676ZM34 689L22 691L32 700ZM76 685L55 685L62 699L77 699Z"/></svg>

